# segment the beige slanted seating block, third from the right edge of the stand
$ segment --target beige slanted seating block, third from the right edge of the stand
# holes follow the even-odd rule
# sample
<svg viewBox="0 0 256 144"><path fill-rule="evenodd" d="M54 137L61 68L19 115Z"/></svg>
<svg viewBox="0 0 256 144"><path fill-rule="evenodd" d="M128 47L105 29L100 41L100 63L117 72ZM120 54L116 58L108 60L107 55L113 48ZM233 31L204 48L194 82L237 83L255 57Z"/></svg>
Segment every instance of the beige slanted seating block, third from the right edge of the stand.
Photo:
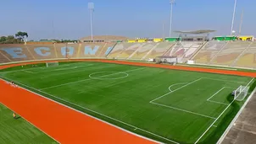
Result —
<svg viewBox="0 0 256 144"><path fill-rule="evenodd" d="M192 60L198 64L208 64L212 58L221 51L226 43L226 41L209 41L200 51L198 51L198 54L196 54Z"/></svg>

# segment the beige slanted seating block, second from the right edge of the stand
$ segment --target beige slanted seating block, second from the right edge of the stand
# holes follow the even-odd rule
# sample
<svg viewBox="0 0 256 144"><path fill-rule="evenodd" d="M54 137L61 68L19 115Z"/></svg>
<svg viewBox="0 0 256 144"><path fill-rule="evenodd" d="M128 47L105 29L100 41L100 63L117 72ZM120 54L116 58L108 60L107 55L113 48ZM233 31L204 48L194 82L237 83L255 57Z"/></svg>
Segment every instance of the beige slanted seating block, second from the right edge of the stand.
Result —
<svg viewBox="0 0 256 144"><path fill-rule="evenodd" d="M231 41L210 61L210 64L231 66L237 57L245 51L252 42Z"/></svg>

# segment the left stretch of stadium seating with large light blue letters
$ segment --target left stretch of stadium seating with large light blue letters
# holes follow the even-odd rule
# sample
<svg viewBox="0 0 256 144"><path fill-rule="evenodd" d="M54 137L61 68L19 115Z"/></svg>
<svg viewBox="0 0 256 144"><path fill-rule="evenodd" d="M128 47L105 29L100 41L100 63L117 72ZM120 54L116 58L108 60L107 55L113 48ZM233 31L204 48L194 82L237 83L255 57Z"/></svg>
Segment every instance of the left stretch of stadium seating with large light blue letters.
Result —
<svg viewBox="0 0 256 144"><path fill-rule="evenodd" d="M0 45L0 63L61 58L106 58L115 43L81 44L4 44Z"/></svg>

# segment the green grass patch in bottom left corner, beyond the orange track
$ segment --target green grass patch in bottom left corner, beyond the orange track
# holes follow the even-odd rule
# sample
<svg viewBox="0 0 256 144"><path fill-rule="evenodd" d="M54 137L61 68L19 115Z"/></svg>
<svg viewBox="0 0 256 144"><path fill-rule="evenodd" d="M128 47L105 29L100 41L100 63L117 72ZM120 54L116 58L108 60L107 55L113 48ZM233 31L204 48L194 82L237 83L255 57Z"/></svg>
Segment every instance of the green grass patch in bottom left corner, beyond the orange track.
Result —
<svg viewBox="0 0 256 144"><path fill-rule="evenodd" d="M12 114L0 103L0 143L57 143L22 118L14 120Z"/></svg>

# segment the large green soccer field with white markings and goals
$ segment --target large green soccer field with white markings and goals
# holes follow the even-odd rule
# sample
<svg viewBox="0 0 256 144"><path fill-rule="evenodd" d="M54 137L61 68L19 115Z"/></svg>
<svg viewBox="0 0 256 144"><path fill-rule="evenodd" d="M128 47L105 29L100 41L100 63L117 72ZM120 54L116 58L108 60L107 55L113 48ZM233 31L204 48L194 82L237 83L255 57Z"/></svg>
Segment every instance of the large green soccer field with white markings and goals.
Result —
<svg viewBox="0 0 256 144"><path fill-rule="evenodd" d="M252 77L101 62L12 67L0 76L128 131L164 143L215 143Z"/></svg>

